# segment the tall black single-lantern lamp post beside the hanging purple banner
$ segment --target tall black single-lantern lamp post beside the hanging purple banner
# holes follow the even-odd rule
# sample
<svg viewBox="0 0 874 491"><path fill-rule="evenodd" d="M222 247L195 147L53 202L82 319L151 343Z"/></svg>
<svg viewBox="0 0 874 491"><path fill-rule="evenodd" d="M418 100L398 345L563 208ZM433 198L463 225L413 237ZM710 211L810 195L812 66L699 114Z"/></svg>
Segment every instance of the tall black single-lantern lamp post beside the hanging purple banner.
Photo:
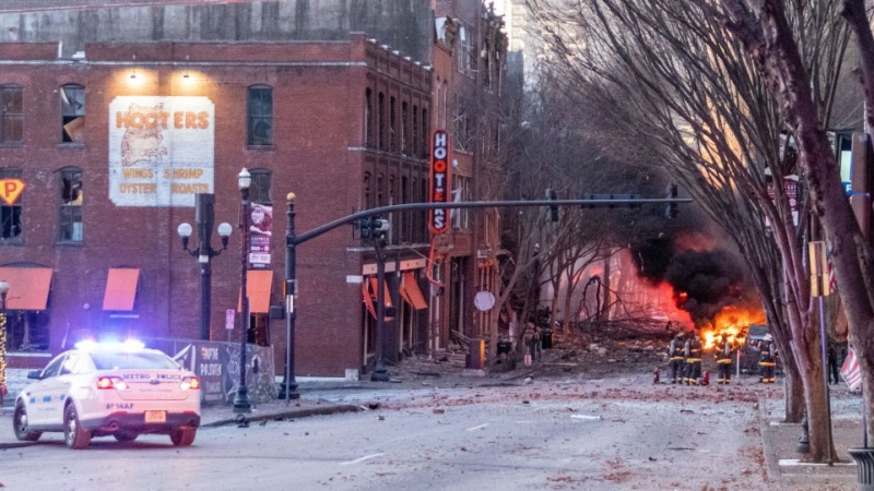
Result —
<svg viewBox="0 0 874 491"><path fill-rule="evenodd" d="M249 390L246 387L246 337L249 335L249 294L246 291L246 273L248 270L248 254L249 254L249 214L251 213L251 203L249 203L249 185L252 183L252 176L244 167L237 176L237 183L239 184L240 194L240 209L239 209L239 229L243 232L240 237L240 256L243 263L240 265L240 323L239 333L239 387L237 387L237 395L234 397L234 412L251 412L252 403L249 400Z"/></svg>

